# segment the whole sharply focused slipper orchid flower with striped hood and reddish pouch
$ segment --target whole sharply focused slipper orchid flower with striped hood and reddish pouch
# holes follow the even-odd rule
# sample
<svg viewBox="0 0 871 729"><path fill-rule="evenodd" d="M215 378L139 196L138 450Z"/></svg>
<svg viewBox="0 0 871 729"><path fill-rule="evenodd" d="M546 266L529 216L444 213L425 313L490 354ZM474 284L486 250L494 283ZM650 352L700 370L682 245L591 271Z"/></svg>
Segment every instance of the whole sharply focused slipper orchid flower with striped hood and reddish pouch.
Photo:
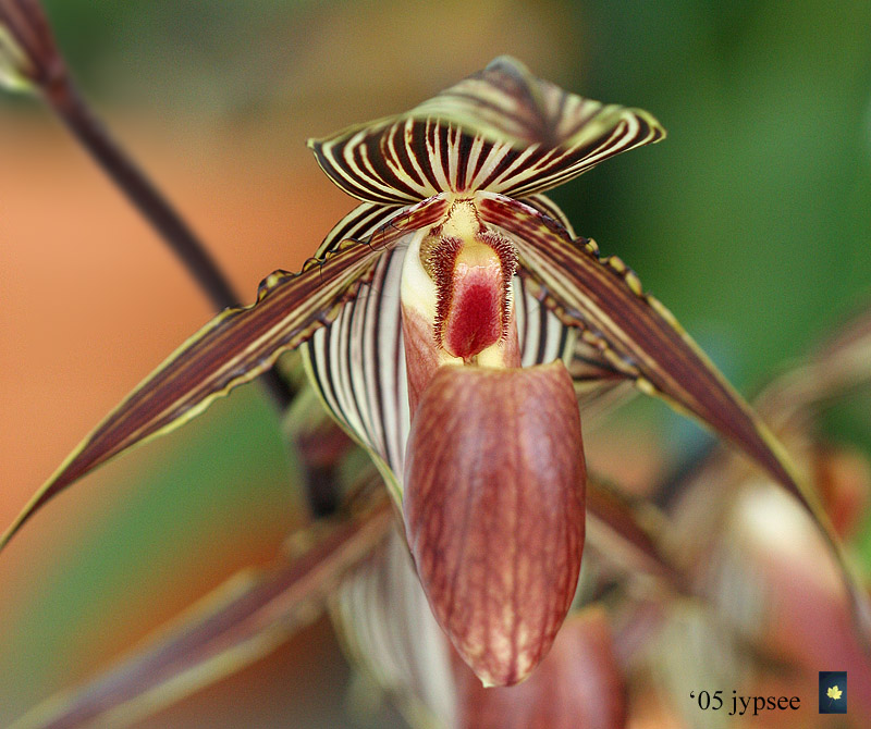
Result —
<svg viewBox="0 0 871 729"><path fill-rule="evenodd" d="M634 382L738 444L819 519L774 438L672 314L542 196L664 135L645 111L500 58L404 114L310 141L361 203L299 273L271 274L255 304L170 356L0 547L76 479L300 346L326 407L384 477L433 615L484 684L528 676L572 602L579 403Z"/></svg>

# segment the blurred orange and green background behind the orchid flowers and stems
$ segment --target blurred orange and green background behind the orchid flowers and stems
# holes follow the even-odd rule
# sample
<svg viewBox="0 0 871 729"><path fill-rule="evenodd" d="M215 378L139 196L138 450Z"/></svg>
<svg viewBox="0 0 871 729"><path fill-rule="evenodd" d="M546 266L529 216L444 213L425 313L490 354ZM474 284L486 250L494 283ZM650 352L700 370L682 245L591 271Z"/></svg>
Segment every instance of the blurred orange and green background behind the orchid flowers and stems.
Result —
<svg viewBox="0 0 871 729"><path fill-rule="evenodd" d="M45 4L85 96L246 301L354 206L307 137L405 110L501 53L666 127L553 197L748 397L871 298L863 0ZM0 524L210 316L49 112L0 96ZM868 453L869 411L867 394L833 408L826 434ZM630 412L588 456L604 470L618 456L640 489L704 437L657 404ZM273 556L302 519L293 472L247 386L40 512L0 558L0 725ZM321 622L143 726L355 726L347 677Z"/></svg>

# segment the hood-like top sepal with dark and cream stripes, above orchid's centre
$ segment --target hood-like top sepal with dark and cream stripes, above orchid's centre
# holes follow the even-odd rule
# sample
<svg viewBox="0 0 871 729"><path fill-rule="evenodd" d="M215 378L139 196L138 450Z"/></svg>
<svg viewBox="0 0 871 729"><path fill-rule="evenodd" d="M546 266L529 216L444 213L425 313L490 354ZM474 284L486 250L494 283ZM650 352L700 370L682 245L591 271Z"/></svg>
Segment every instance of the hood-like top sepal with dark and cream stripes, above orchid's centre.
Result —
<svg viewBox="0 0 871 729"><path fill-rule="evenodd" d="M308 145L348 195L402 205L442 191L526 197L664 136L646 111L568 94L500 57L404 114Z"/></svg>

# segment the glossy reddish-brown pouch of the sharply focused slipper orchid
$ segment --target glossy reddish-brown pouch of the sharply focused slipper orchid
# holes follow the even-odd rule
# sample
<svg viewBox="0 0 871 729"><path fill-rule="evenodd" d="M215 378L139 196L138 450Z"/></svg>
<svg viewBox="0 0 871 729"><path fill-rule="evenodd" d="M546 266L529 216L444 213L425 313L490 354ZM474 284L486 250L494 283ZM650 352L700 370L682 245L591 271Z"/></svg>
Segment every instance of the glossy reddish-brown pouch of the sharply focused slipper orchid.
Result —
<svg viewBox="0 0 871 729"><path fill-rule="evenodd" d="M486 684L522 681L563 622L584 480L562 362L446 366L424 392L405 464L406 536L436 618Z"/></svg>

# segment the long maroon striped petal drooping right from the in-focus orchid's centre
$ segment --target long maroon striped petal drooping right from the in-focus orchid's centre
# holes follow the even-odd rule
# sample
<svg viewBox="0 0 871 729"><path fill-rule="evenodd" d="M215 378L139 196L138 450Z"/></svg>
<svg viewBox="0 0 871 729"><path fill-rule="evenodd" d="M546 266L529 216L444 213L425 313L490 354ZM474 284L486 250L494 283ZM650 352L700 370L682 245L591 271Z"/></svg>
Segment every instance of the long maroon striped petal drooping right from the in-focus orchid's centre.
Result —
<svg viewBox="0 0 871 729"><path fill-rule="evenodd" d="M514 235L522 271L560 318L581 331L646 393L686 410L755 458L813 518L837 558L854 616L871 646L871 607L844 557L814 492L795 473L783 446L717 372L674 317L641 289L617 258L573 240L551 219L516 200L481 194L481 218Z"/></svg>

